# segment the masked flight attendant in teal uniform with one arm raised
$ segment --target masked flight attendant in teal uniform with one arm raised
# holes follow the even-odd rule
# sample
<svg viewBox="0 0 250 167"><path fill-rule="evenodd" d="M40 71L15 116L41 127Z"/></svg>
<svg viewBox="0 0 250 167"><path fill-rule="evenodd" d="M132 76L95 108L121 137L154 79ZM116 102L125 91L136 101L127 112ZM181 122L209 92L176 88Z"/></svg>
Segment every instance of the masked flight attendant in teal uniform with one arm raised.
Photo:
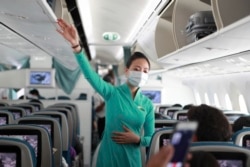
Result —
<svg viewBox="0 0 250 167"><path fill-rule="evenodd" d="M71 44L85 78L105 100L106 124L97 167L142 166L140 147L149 146L154 133L153 104L139 89L148 79L149 60L135 52L126 64L127 82L113 86L90 66L75 27L62 19L58 19L58 25L61 29L57 31ZM142 129L144 135L140 136Z"/></svg>

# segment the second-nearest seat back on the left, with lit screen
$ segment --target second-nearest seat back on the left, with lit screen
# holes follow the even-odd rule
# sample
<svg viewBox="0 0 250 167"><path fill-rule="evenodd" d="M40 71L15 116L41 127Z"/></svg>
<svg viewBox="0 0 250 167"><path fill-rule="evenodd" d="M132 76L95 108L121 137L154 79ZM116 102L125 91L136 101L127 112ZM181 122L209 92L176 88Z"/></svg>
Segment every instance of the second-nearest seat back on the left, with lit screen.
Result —
<svg viewBox="0 0 250 167"><path fill-rule="evenodd" d="M35 125L3 125L0 135L27 141L35 150L37 167L54 167L52 142L46 129Z"/></svg>

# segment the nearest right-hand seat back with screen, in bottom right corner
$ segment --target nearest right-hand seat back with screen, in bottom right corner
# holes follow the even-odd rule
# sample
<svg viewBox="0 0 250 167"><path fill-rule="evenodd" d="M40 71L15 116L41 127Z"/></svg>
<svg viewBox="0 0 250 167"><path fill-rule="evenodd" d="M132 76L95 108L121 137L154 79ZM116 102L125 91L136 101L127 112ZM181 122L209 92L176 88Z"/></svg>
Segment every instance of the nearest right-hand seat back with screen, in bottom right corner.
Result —
<svg viewBox="0 0 250 167"><path fill-rule="evenodd" d="M230 142L193 142L190 151L209 152L218 160L220 165L250 166L250 150Z"/></svg>

